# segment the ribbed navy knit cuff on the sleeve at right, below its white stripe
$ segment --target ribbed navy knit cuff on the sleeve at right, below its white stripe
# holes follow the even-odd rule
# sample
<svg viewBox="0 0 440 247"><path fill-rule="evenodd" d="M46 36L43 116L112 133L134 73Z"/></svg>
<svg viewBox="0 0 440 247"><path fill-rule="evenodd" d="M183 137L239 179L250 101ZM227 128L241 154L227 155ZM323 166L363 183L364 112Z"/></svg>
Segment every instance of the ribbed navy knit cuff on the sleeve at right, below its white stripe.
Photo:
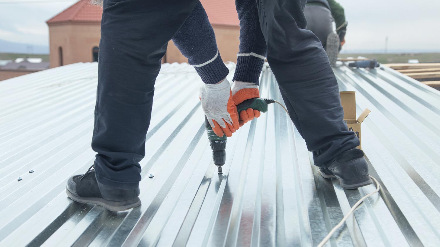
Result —
<svg viewBox="0 0 440 247"><path fill-rule="evenodd" d="M238 56L232 81L253 82L258 86L264 59L255 56Z"/></svg>

